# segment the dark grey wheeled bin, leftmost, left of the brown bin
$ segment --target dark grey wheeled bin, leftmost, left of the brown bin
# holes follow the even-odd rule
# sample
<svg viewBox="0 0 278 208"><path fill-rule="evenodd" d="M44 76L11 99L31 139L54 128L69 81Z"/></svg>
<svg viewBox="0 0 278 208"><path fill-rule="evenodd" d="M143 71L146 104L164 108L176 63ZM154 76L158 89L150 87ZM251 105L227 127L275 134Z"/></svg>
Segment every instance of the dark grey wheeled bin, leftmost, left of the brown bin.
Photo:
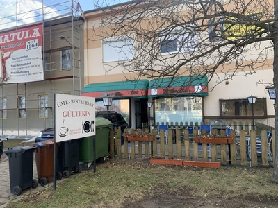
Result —
<svg viewBox="0 0 278 208"><path fill-rule="evenodd" d="M38 181L33 179L33 146L17 146L5 151L9 157L10 193L19 196L22 190L38 187Z"/></svg>

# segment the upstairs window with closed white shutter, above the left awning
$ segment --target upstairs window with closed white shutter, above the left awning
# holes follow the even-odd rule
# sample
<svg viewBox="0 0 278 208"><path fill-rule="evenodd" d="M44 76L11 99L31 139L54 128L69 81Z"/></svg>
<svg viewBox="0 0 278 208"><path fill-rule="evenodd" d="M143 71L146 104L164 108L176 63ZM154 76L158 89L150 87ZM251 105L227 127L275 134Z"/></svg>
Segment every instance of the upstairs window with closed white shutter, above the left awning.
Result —
<svg viewBox="0 0 278 208"><path fill-rule="evenodd" d="M133 36L122 36L102 40L104 62L131 60L134 57Z"/></svg>

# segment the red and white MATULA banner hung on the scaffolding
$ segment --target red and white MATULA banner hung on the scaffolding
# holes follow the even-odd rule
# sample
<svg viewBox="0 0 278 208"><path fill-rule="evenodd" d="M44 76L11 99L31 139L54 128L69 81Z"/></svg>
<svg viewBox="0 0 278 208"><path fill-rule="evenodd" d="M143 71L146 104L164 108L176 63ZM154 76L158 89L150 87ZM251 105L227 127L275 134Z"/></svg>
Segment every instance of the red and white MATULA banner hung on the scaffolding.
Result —
<svg viewBox="0 0 278 208"><path fill-rule="evenodd" d="M44 79L42 24L0 33L0 83L28 83Z"/></svg>

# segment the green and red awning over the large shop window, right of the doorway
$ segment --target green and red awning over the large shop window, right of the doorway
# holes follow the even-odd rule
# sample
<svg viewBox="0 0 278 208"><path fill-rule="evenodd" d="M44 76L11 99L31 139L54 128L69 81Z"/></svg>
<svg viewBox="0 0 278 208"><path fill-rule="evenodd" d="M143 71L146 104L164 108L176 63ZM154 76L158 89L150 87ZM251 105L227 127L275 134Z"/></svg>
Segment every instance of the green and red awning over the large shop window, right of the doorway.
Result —
<svg viewBox="0 0 278 208"><path fill-rule="evenodd" d="M148 97L159 96L208 96L206 75L158 78L149 82Z"/></svg>

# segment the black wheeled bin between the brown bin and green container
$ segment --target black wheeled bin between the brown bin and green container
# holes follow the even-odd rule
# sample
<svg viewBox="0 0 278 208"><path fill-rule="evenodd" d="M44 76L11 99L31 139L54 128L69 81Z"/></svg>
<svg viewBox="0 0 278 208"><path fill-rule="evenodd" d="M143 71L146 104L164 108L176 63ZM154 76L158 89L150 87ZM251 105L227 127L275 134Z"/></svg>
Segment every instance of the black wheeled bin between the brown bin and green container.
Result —
<svg viewBox="0 0 278 208"><path fill-rule="evenodd" d="M79 144L81 139L61 141L58 150L58 171L62 172L63 177L70 177L72 173L81 173L79 166Z"/></svg>

